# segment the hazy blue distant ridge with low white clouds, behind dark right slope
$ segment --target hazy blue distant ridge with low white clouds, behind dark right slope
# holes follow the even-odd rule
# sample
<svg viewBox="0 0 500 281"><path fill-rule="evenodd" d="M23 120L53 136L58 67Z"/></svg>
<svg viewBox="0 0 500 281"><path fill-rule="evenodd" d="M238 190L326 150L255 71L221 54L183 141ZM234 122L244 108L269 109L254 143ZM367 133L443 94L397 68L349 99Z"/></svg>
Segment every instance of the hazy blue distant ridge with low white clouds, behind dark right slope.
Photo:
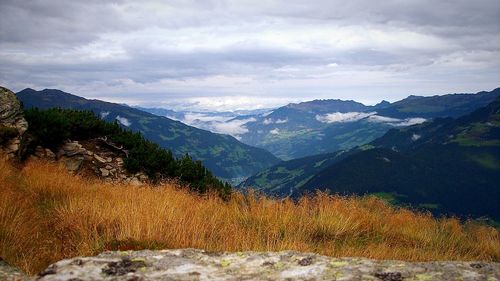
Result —
<svg viewBox="0 0 500 281"><path fill-rule="evenodd" d="M477 94L410 96L366 106L352 100L314 100L289 104L247 119L239 139L284 160L346 150L370 142L395 126L426 119L458 117L492 102L500 89Z"/></svg>

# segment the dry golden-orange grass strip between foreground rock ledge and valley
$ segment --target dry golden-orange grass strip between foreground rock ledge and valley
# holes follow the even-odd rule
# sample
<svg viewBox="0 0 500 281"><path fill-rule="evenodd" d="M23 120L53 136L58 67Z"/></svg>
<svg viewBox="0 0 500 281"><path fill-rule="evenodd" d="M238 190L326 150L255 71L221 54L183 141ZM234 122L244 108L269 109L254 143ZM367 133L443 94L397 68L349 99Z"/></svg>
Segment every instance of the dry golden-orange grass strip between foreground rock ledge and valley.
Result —
<svg viewBox="0 0 500 281"><path fill-rule="evenodd" d="M106 249L310 251L376 259L500 260L494 228L318 194L298 203L235 194L223 202L174 185L106 185L40 161L0 161L0 256L29 273Z"/></svg>

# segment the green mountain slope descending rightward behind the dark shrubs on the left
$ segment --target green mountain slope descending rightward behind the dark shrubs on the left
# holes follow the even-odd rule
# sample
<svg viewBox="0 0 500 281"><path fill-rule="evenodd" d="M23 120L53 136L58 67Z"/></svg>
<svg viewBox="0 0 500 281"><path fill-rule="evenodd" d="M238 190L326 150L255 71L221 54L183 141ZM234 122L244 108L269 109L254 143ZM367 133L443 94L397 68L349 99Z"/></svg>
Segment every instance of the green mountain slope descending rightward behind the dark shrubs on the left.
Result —
<svg viewBox="0 0 500 281"><path fill-rule="evenodd" d="M25 89L17 96L25 108L91 110L104 120L118 120L122 126L140 131L148 140L170 149L177 157L188 153L201 160L216 176L224 179L246 177L280 161L271 153L243 144L231 136L200 130L124 105L88 100L49 89Z"/></svg>

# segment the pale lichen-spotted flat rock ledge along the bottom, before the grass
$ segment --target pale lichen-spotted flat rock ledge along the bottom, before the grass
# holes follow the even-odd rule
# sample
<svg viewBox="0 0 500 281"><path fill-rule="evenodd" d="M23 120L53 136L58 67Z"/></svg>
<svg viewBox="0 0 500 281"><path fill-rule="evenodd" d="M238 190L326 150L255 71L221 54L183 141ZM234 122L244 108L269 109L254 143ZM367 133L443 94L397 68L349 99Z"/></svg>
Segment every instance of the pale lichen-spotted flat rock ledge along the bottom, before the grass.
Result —
<svg viewBox="0 0 500 281"><path fill-rule="evenodd" d="M486 280L500 281L500 264L330 258L299 252L164 250L104 252L63 260L37 280Z"/></svg>

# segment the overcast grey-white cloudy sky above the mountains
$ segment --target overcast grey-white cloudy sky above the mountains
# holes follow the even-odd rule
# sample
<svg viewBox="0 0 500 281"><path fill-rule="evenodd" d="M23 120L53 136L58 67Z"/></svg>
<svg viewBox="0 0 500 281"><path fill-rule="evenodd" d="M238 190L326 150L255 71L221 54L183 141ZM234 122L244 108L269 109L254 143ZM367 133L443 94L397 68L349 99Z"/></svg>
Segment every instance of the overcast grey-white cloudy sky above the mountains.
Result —
<svg viewBox="0 0 500 281"><path fill-rule="evenodd" d="M177 110L500 87L498 0L0 0L0 85Z"/></svg>

